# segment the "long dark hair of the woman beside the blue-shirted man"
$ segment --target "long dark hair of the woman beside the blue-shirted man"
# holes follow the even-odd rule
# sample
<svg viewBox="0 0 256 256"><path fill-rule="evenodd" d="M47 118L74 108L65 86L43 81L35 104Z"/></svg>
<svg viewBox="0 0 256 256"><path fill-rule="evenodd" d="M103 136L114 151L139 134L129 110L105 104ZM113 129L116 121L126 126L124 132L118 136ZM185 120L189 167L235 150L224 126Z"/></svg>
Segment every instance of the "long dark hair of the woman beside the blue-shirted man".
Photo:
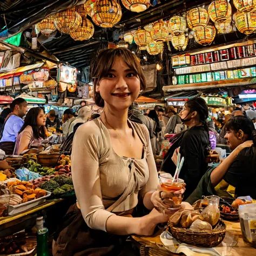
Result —
<svg viewBox="0 0 256 256"><path fill-rule="evenodd" d="M33 107L32 109L30 109L29 112L26 114L24 124L21 127L21 130L19 131L19 133L21 133L26 128L26 126L30 125L33 130L33 137L35 137L36 139L39 139L39 138L45 139L46 138L45 126L41 126L39 128L37 124L37 116L41 111L43 111L41 107Z"/></svg>

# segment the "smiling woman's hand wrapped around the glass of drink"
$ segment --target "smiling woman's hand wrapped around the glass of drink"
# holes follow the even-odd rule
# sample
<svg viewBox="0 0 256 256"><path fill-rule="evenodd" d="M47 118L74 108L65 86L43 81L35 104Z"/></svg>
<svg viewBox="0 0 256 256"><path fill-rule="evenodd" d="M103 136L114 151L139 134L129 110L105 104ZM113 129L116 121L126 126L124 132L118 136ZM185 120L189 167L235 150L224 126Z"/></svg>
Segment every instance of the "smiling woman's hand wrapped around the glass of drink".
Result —
<svg viewBox="0 0 256 256"><path fill-rule="evenodd" d="M166 191L163 191L163 188L159 184L157 187L157 191L155 191L151 196L151 202L156 208L156 210L168 215L171 215L174 212L176 212L176 211L167 210L167 208L173 207L174 201L171 199L173 196L179 196L181 194L184 194L186 190L185 186L186 184L184 183L183 188L181 188L181 190L166 192Z"/></svg>

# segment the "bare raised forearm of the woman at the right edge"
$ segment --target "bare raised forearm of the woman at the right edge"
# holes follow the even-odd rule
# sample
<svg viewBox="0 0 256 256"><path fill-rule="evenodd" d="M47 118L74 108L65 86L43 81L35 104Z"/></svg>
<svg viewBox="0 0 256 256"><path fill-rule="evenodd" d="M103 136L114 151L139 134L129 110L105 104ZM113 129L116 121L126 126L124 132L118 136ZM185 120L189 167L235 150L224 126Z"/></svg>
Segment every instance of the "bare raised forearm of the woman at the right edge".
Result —
<svg viewBox="0 0 256 256"><path fill-rule="evenodd" d="M224 175L226 174L228 168L232 165L233 161L237 157L238 153L243 150L245 147L250 147L253 144L252 140L248 140L240 144L236 149L232 151L232 153L223 160L223 162L216 167L211 173L211 183L213 186L219 184L219 182L223 179Z"/></svg>

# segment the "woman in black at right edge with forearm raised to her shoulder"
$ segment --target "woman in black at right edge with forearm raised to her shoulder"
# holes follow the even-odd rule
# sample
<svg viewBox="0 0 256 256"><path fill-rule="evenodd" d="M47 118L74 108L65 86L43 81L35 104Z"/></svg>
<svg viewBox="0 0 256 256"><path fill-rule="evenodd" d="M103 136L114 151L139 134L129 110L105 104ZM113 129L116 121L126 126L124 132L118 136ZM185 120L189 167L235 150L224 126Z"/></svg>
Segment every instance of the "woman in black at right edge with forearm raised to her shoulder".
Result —
<svg viewBox="0 0 256 256"><path fill-rule="evenodd" d="M235 196L256 198L256 131L253 122L244 116L233 117L225 125L227 145L232 153L215 169L209 169L197 189L186 201L193 204L201 196L215 194L221 180L235 187Z"/></svg>

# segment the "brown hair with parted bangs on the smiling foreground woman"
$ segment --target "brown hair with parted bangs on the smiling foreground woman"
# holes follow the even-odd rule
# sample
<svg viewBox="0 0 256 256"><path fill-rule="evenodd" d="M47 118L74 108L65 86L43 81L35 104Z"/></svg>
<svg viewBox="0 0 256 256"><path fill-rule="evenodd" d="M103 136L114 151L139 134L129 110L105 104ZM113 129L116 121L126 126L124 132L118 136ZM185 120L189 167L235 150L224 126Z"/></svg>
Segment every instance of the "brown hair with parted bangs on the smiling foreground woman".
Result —
<svg viewBox="0 0 256 256"><path fill-rule="evenodd" d="M99 85L100 80L109 73L116 58L121 58L131 70L136 73L140 80L140 89L145 90L146 80L142 67L139 64L137 56L134 55L130 50L125 48L117 49L106 49L100 51L98 56L92 60L90 65L91 68L91 78L94 85L94 100L96 105L99 107L104 107L104 100L100 96L100 93L96 91L96 85Z"/></svg>

